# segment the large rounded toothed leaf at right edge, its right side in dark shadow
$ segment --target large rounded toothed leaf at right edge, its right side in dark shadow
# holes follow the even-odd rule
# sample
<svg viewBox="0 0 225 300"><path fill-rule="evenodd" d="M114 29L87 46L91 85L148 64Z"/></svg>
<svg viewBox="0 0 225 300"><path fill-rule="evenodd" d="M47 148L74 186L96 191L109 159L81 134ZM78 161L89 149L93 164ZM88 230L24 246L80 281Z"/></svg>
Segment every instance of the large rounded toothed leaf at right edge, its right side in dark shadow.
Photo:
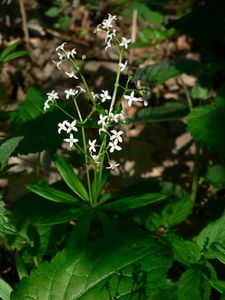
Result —
<svg viewBox="0 0 225 300"><path fill-rule="evenodd" d="M225 105L196 107L188 116L188 130L201 145L225 153Z"/></svg>

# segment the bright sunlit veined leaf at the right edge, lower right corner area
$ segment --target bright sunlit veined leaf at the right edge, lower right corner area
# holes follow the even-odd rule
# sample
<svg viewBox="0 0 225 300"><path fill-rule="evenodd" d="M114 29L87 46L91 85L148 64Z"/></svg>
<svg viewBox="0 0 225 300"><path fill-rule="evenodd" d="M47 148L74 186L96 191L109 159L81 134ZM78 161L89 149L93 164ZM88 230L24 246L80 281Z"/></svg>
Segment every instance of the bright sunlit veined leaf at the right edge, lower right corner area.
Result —
<svg viewBox="0 0 225 300"><path fill-rule="evenodd" d="M194 238L199 245L204 256L207 258L215 258L215 254L210 249L213 242L219 242L225 246L225 215L216 221L208 224L198 236Z"/></svg>

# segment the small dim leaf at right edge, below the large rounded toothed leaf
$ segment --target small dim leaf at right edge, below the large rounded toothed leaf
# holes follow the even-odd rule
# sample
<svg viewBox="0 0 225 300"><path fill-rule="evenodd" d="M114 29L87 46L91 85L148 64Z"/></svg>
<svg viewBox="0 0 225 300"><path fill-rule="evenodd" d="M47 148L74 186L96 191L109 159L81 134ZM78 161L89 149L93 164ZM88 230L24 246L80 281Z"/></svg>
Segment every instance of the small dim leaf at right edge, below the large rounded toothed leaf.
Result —
<svg viewBox="0 0 225 300"><path fill-rule="evenodd" d="M216 190L222 190L225 187L225 167L222 165L209 166L204 178L209 181Z"/></svg>

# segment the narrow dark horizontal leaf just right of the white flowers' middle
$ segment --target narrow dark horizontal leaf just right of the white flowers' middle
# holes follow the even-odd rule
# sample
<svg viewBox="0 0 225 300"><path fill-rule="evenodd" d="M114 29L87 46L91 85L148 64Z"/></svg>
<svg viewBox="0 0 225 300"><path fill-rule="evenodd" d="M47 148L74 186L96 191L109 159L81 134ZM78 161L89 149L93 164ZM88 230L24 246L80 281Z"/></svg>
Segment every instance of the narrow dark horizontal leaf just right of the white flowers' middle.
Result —
<svg viewBox="0 0 225 300"><path fill-rule="evenodd" d="M180 102L169 102L154 108L143 108L134 116L135 122L163 122L177 120L189 113L186 104Z"/></svg>

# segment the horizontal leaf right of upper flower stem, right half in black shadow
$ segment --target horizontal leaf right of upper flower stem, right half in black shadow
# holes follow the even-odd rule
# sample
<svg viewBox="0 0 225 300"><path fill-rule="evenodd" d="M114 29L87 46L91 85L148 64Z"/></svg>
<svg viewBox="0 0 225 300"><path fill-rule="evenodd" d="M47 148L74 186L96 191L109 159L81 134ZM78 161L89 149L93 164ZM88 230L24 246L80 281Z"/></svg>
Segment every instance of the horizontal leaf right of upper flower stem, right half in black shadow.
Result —
<svg viewBox="0 0 225 300"><path fill-rule="evenodd" d="M134 75L134 80L161 84L167 79L177 77L183 73L188 75L197 74L202 69L203 64L198 61L172 59L138 69Z"/></svg>

